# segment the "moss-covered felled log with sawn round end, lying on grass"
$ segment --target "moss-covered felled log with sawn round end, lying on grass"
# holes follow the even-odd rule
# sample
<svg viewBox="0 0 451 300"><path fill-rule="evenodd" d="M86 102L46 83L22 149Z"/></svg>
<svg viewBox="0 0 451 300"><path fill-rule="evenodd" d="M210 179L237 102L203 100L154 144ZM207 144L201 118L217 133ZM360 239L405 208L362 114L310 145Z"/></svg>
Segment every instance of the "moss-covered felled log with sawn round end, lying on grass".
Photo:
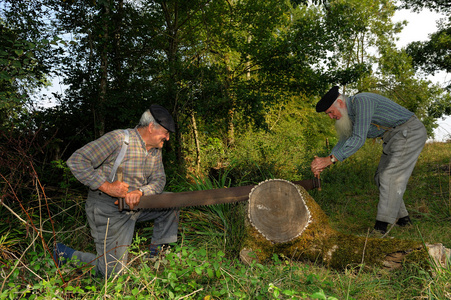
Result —
<svg viewBox="0 0 451 300"><path fill-rule="evenodd" d="M417 241L340 233L330 227L303 187L279 179L264 181L251 191L246 227L240 252L246 263L262 262L276 253L337 269L360 264L396 269L409 260L428 266L428 252L437 252L434 258L439 263L450 255L441 244L424 247Z"/></svg>

